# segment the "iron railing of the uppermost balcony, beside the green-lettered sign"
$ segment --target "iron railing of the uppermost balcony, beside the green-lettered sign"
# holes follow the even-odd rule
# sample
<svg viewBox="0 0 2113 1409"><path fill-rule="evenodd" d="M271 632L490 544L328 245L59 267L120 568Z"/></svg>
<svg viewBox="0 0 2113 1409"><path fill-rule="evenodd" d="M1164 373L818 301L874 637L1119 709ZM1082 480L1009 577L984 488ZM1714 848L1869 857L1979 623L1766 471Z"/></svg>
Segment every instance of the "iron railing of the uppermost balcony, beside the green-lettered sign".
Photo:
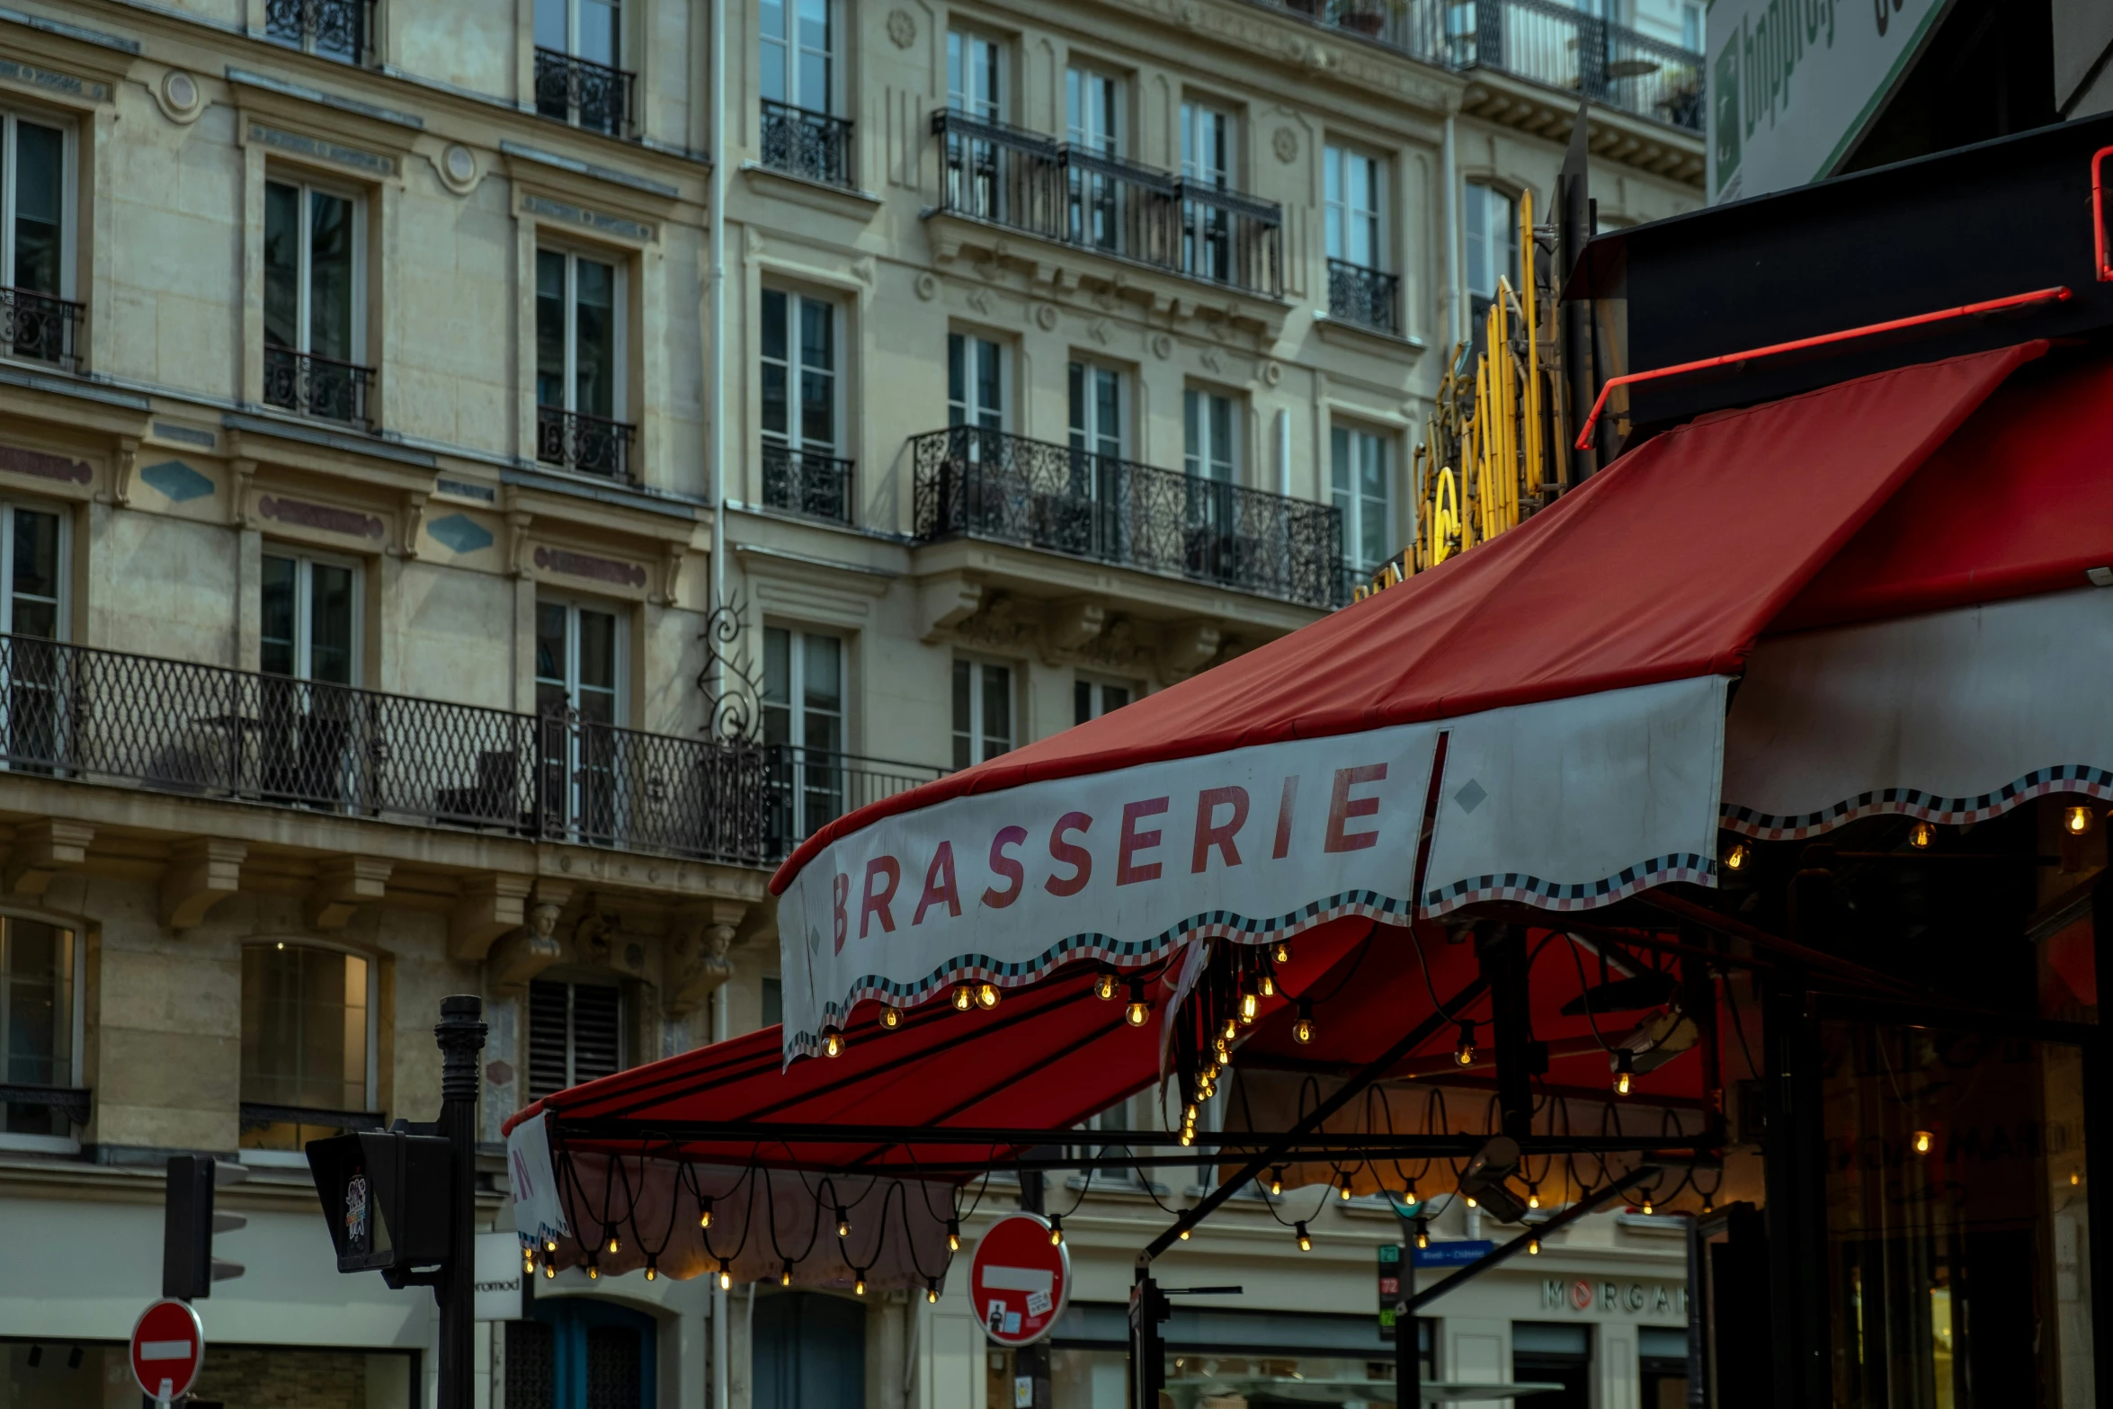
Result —
<svg viewBox="0 0 2113 1409"><path fill-rule="evenodd" d="M1703 131L1703 55L1564 0L1264 0L1424 63L1494 68Z"/></svg>

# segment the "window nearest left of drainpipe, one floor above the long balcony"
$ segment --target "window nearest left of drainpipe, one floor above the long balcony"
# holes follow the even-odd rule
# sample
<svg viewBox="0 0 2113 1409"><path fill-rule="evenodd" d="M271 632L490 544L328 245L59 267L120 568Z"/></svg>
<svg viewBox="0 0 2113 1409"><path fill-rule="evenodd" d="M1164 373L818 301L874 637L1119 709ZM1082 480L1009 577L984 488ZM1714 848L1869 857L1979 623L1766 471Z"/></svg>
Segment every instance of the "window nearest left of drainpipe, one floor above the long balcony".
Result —
<svg viewBox="0 0 2113 1409"><path fill-rule="evenodd" d="M564 249L535 256L537 458L625 475L623 270Z"/></svg>

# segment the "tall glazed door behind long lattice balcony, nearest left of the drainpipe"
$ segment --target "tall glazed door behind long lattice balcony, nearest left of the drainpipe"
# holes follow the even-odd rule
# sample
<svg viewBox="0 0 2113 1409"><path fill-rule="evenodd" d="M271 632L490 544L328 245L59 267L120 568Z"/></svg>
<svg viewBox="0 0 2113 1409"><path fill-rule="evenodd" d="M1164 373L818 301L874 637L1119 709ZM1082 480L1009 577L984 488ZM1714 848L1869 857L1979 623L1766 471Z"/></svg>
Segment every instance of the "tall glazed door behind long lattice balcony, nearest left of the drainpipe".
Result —
<svg viewBox="0 0 2113 1409"><path fill-rule="evenodd" d="M623 767L623 617L541 600L535 608L535 706L543 720L543 807L579 841L615 837Z"/></svg>

